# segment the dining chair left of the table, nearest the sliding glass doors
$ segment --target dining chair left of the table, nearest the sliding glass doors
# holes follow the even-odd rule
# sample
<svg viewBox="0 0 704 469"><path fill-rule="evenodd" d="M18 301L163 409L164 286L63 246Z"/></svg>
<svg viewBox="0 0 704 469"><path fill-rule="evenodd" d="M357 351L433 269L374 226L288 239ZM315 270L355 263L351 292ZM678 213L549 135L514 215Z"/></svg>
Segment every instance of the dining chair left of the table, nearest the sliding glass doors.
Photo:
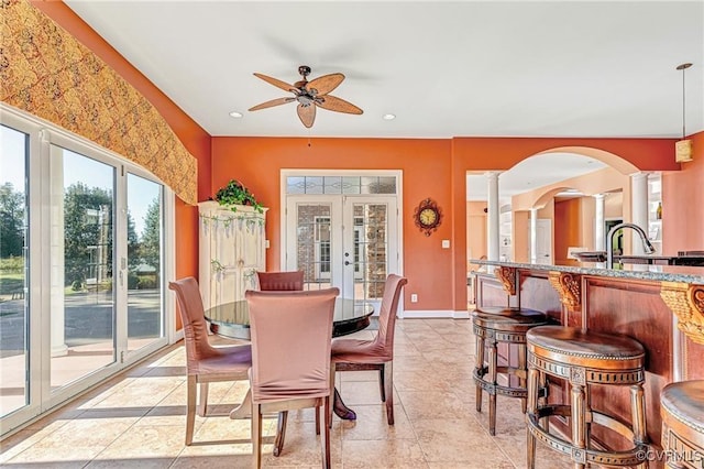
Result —
<svg viewBox="0 0 704 469"><path fill-rule="evenodd" d="M186 446L189 446L194 440L197 384L200 385L198 415L205 417L208 407L208 383L249 380L252 347L250 345L228 347L210 345L202 298L196 279L189 276L169 282L168 287L176 292L178 310L184 325L188 373Z"/></svg>

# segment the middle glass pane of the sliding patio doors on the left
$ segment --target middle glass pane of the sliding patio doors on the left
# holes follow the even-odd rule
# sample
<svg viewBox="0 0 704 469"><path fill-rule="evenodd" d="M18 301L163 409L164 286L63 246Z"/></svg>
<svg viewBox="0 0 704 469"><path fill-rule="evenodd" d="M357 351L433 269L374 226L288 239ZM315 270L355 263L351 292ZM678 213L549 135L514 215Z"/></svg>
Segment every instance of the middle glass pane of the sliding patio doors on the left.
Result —
<svg viewBox="0 0 704 469"><path fill-rule="evenodd" d="M114 167L52 145L51 385L114 362Z"/></svg>

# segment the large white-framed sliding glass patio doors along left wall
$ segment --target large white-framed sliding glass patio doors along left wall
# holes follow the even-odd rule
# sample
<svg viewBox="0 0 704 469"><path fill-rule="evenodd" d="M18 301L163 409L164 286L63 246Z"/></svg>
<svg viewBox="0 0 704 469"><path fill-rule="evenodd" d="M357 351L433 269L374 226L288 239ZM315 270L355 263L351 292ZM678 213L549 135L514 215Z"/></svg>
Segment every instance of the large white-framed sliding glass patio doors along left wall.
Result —
<svg viewBox="0 0 704 469"><path fill-rule="evenodd" d="M167 343L168 190L3 109L0 435Z"/></svg>

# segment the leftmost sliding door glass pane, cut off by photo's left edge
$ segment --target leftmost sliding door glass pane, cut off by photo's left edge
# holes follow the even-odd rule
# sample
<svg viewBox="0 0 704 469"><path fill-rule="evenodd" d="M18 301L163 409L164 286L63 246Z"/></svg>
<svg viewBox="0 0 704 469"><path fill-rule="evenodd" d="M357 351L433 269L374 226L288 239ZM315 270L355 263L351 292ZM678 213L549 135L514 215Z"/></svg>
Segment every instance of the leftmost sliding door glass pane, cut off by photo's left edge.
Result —
<svg viewBox="0 0 704 469"><path fill-rule="evenodd" d="M0 127L0 416L29 404L28 142Z"/></svg>

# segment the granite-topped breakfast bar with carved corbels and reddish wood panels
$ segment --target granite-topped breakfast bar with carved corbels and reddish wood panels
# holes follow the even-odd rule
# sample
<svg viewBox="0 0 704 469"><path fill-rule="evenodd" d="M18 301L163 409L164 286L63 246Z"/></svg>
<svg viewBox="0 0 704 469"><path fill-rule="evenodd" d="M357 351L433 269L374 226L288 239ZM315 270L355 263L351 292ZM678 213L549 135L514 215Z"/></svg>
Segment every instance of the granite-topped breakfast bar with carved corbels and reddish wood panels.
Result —
<svg viewBox="0 0 704 469"><path fill-rule="evenodd" d="M646 348L646 410L650 441L660 445L660 392L673 381L704 379L704 268L625 264L605 269L471 260L474 298L482 306L546 312L571 327L625 334ZM510 358L508 358L510 359ZM551 394L569 396L560 383ZM595 389L595 407L629 415L628 389Z"/></svg>

